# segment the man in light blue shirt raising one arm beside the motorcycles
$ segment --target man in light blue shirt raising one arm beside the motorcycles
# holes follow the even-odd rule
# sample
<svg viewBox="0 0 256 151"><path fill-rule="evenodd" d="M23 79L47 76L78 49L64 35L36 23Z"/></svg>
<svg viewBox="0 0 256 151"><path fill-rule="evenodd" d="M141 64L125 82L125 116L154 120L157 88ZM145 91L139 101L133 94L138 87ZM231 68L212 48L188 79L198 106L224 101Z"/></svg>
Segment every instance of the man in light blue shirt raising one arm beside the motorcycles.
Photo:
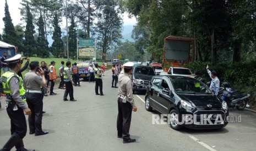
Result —
<svg viewBox="0 0 256 151"><path fill-rule="evenodd" d="M209 74L211 78L211 85L210 85L210 90L215 93L215 95L218 95L219 90L220 90L220 80L217 77L216 71L210 71L209 66L206 66L207 73Z"/></svg>

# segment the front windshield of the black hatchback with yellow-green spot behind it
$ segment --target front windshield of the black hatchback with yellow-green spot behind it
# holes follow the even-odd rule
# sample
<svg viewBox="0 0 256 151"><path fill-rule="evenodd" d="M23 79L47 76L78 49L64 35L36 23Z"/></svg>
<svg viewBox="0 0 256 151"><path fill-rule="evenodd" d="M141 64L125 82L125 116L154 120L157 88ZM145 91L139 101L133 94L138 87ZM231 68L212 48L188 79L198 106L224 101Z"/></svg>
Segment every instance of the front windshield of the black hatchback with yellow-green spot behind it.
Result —
<svg viewBox="0 0 256 151"><path fill-rule="evenodd" d="M172 79L172 83L179 94L211 94L211 90L197 79Z"/></svg>

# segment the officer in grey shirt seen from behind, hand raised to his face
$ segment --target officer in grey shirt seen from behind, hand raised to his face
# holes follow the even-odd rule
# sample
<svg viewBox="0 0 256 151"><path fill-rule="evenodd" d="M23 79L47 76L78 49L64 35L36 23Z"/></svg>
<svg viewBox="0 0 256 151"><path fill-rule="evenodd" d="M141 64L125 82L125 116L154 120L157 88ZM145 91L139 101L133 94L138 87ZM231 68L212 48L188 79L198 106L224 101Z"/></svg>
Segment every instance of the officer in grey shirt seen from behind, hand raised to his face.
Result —
<svg viewBox="0 0 256 151"><path fill-rule="evenodd" d="M38 61L29 64L30 71L24 76L26 88L26 101L31 109L29 115L29 134L35 136L45 135L48 131L42 131L43 87L46 86L45 73L39 67Z"/></svg>

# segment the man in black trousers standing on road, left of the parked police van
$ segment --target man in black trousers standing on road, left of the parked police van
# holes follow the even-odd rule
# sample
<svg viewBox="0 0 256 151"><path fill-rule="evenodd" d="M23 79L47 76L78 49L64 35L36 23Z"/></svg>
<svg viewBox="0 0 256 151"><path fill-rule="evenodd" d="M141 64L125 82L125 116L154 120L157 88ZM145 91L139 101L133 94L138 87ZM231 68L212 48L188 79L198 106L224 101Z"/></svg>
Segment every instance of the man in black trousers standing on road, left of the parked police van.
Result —
<svg viewBox="0 0 256 151"><path fill-rule="evenodd" d="M74 82L72 80L72 71L70 69L71 67L71 62L68 61L66 62L66 66L64 68L64 71L63 71L63 78L64 78L64 83L66 85L66 90L64 92L64 96L63 96L63 101L68 101L67 97L68 97L68 94L69 94L69 98L70 98L70 101L77 101L74 99L74 96L73 96L73 85L74 85Z"/></svg>

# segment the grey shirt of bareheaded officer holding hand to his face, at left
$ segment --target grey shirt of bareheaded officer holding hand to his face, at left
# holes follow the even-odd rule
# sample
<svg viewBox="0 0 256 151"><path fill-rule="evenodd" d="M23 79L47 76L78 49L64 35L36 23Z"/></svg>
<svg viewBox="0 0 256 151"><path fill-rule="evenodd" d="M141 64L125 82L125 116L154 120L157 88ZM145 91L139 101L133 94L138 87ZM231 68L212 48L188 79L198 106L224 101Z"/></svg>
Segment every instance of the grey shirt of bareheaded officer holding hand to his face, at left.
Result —
<svg viewBox="0 0 256 151"><path fill-rule="evenodd" d="M24 84L27 90L41 90L41 84L43 83L42 76L36 74L34 71L29 71L24 76Z"/></svg>

